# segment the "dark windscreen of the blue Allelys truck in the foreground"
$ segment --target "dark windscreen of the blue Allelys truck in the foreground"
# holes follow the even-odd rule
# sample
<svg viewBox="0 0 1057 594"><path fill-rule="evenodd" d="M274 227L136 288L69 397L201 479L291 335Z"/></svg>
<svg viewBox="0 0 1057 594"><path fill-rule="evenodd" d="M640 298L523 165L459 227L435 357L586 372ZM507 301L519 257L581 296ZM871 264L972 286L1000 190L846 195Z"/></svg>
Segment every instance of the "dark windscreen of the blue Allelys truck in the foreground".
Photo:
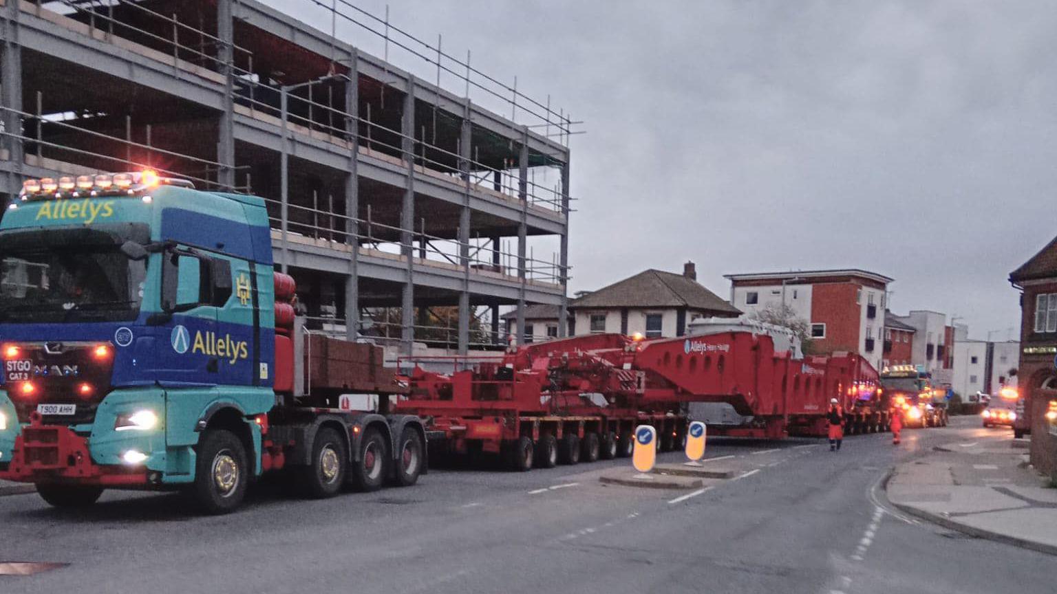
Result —
<svg viewBox="0 0 1057 594"><path fill-rule="evenodd" d="M19 246L0 242L0 323L135 319L145 260L116 245Z"/></svg>

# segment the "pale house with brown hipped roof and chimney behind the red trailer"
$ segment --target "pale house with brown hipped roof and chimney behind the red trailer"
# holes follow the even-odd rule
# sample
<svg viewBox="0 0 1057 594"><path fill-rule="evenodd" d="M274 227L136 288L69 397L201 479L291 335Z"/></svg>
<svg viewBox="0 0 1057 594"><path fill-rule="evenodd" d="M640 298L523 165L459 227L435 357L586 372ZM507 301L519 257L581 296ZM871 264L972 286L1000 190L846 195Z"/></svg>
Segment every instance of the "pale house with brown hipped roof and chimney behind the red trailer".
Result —
<svg viewBox="0 0 1057 594"><path fill-rule="evenodd" d="M737 318L741 311L698 283L693 262L683 274L648 270L573 299L572 334L641 333L683 336L699 317Z"/></svg>

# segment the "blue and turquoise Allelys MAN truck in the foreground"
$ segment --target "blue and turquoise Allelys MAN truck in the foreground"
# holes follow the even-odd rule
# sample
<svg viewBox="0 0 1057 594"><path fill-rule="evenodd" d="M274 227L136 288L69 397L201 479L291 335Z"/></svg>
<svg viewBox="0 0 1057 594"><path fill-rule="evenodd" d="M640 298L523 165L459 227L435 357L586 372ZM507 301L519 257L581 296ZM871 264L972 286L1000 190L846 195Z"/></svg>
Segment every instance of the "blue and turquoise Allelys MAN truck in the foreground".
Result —
<svg viewBox="0 0 1057 594"><path fill-rule="evenodd" d="M307 336L260 198L156 173L29 180L0 223L0 479L56 506L285 470L311 497L411 485L419 416L381 348ZM344 394L379 395L379 412Z"/></svg>

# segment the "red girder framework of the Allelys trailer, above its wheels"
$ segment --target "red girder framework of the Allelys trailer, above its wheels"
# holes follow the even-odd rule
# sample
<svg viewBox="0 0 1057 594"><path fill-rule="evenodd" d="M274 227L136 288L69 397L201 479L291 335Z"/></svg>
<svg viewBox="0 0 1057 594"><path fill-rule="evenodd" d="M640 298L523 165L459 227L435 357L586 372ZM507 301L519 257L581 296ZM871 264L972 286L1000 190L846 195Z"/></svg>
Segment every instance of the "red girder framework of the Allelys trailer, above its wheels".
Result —
<svg viewBox="0 0 1057 594"><path fill-rule="evenodd" d="M458 366L457 357L449 360ZM859 355L794 359L752 332L643 341L577 336L522 346L498 363L450 374L415 368L408 383L397 409L438 427L483 417L670 415L684 403L719 402L755 420L754 431L733 434L777 438L790 426L820 432L832 397L850 411L878 408L877 372Z"/></svg>

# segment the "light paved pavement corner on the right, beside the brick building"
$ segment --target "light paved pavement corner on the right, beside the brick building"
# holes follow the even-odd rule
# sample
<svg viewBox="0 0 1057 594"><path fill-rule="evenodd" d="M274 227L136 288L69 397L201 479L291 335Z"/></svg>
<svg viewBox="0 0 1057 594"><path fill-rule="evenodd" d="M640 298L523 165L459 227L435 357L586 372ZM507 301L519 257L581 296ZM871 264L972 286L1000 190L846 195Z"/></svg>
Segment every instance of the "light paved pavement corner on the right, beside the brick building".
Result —
<svg viewBox="0 0 1057 594"><path fill-rule="evenodd" d="M1057 555L1057 488L1027 465L1003 428L973 430L898 464L888 481L896 507L982 538Z"/></svg>

